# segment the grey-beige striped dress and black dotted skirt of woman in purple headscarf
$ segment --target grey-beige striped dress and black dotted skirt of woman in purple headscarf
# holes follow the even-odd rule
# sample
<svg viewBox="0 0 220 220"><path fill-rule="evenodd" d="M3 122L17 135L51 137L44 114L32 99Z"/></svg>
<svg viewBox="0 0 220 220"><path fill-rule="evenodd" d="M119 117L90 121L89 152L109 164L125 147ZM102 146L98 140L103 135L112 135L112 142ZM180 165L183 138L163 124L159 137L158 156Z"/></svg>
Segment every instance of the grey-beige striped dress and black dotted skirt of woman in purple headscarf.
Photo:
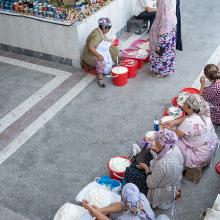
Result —
<svg viewBox="0 0 220 220"><path fill-rule="evenodd" d="M153 208L163 203L172 202L174 190L180 188L183 171L183 156L177 146L165 154L161 159L151 160L151 174L146 175L143 170L132 164L126 169L125 179L134 183Z"/></svg>

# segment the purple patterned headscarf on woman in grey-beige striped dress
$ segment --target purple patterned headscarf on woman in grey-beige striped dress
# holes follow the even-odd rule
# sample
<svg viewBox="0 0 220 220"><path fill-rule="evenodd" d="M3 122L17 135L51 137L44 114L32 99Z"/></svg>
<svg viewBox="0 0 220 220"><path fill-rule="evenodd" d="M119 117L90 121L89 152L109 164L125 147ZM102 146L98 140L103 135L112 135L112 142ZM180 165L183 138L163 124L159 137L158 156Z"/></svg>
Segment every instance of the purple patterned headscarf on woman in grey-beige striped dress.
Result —
<svg viewBox="0 0 220 220"><path fill-rule="evenodd" d="M175 146L178 137L175 132L167 128L156 132L155 141L158 141L164 149L157 155L157 159L162 158L172 147Z"/></svg>

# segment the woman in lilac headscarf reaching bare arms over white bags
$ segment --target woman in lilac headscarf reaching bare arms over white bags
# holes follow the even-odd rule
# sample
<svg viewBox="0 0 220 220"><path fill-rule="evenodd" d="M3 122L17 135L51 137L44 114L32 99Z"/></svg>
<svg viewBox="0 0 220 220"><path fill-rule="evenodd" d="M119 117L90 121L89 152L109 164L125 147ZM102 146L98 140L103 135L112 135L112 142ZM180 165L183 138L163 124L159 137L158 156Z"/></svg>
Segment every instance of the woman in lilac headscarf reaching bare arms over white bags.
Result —
<svg viewBox="0 0 220 220"><path fill-rule="evenodd" d="M114 203L105 208L90 206L83 201L83 206L97 220L167 220L165 215L159 215L155 218L154 212L146 196L140 193L139 189L133 183L126 184L122 189L122 201ZM110 215L108 218L106 215Z"/></svg>

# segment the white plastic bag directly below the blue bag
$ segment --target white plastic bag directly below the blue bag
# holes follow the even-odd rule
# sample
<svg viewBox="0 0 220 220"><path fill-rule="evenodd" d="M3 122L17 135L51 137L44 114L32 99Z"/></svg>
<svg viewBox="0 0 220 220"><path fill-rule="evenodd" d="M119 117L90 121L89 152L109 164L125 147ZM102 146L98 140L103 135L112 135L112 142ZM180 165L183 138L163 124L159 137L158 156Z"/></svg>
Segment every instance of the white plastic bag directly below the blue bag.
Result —
<svg viewBox="0 0 220 220"><path fill-rule="evenodd" d="M97 182L91 182L85 186L76 196L76 202L87 200L89 204L96 205L99 208L109 206L112 203L120 202L121 196L115 192L107 190Z"/></svg>

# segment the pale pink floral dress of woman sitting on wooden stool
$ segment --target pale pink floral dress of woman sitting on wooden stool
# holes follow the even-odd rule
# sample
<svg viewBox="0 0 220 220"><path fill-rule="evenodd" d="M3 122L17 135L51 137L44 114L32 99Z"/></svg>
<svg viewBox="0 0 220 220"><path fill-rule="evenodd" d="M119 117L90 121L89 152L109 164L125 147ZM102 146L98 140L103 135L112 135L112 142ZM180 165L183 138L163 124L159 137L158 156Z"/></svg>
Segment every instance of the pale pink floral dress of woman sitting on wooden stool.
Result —
<svg viewBox="0 0 220 220"><path fill-rule="evenodd" d="M211 118L204 116L202 119L199 115L192 114L178 129L185 134L177 143L184 156L185 167L206 166L211 161L218 143Z"/></svg>

